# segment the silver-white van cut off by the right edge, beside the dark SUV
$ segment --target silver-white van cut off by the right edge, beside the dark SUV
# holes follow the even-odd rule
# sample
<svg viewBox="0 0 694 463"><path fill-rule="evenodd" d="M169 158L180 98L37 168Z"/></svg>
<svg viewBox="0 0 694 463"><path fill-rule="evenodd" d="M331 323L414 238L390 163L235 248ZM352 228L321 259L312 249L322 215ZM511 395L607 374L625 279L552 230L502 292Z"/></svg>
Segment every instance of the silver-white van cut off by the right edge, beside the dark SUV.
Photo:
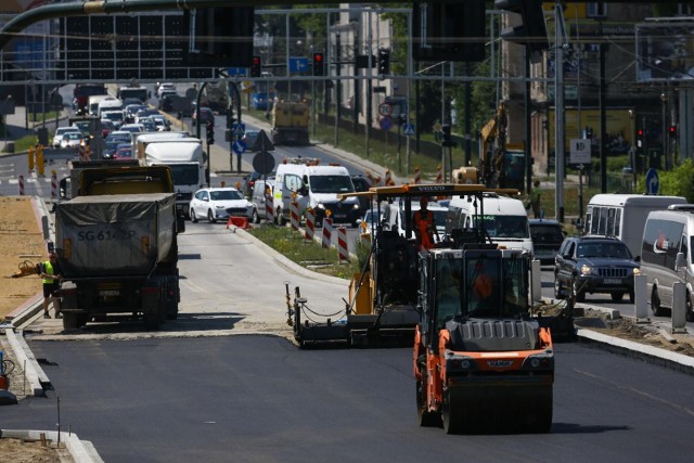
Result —
<svg viewBox="0 0 694 463"><path fill-rule="evenodd" d="M694 204L648 214L641 242L641 273L646 275L651 309L664 316L672 308L672 283L686 284L686 320L694 321Z"/></svg>

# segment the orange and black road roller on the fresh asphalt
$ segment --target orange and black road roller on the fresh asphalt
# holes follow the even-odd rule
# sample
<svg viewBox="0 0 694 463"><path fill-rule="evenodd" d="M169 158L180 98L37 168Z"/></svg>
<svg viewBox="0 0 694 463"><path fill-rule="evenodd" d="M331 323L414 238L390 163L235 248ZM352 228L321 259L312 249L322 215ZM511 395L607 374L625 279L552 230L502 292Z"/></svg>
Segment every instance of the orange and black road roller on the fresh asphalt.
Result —
<svg viewBox="0 0 694 463"><path fill-rule="evenodd" d="M531 317L530 257L493 244L420 254L414 343L420 425L549 432L554 351Z"/></svg>

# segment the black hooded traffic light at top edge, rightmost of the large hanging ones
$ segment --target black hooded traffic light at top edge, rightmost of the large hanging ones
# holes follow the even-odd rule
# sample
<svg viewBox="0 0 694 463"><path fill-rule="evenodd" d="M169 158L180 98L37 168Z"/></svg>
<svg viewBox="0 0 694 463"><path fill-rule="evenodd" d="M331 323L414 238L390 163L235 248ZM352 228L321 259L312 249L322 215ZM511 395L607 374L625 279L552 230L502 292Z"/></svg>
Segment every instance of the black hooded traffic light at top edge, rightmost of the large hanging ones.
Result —
<svg viewBox="0 0 694 463"><path fill-rule="evenodd" d="M494 9L520 15L520 25L501 31L501 38L524 44L528 52L547 50L550 44L544 25L542 0L494 0Z"/></svg>

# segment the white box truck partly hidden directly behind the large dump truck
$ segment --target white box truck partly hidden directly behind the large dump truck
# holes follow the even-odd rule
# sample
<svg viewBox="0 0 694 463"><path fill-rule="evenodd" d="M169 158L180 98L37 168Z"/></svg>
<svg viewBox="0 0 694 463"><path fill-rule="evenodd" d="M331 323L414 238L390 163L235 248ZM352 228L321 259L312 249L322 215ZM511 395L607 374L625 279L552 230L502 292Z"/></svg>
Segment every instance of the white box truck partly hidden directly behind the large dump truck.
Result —
<svg viewBox="0 0 694 463"><path fill-rule="evenodd" d="M176 205L185 218L190 218L191 198L206 184L202 142L196 138L181 138L149 143L144 149L144 158L140 158L140 165L165 165L171 168Z"/></svg>

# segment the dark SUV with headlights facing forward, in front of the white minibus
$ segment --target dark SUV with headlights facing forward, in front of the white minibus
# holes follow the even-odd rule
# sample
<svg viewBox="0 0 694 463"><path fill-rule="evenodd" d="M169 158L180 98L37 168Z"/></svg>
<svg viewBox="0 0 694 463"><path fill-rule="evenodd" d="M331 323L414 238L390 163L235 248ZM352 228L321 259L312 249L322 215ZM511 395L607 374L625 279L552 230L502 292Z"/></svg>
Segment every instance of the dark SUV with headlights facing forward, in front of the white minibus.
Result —
<svg viewBox="0 0 694 463"><path fill-rule="evenodd" d="M605 293L612 300L625 294L633 303L633 275L641 272L640 258L616 237L571 236L564 240L554 259L554 296L586 300L586 294Z"/></svg>

